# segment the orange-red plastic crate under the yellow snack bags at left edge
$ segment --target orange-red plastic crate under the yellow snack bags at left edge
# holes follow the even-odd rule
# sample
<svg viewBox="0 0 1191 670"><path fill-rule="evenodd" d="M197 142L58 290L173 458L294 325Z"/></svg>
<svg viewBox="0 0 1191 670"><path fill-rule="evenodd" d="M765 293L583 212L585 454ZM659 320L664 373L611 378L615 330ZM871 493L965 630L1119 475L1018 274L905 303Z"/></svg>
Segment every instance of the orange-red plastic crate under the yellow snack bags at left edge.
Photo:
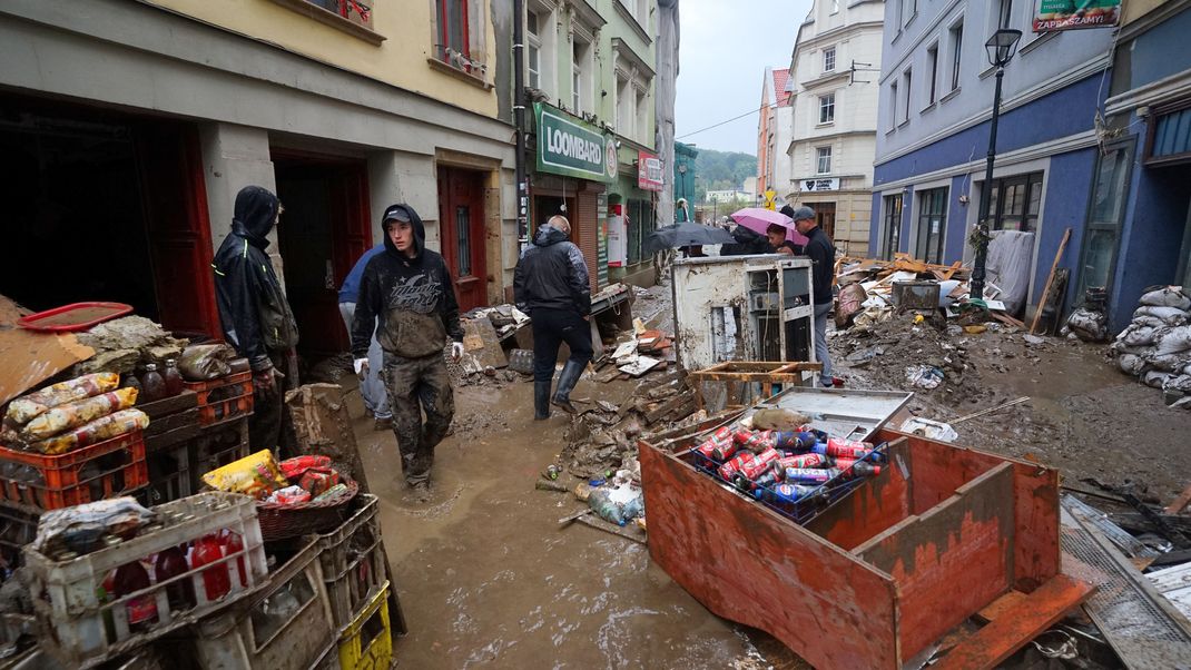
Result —
<svg viewBox="0 0 1191 670"><path fill-rule="evenodd" d="M148 483L141 431L57 456L0 446L0 501L58 509L125 495Z"/></svg>

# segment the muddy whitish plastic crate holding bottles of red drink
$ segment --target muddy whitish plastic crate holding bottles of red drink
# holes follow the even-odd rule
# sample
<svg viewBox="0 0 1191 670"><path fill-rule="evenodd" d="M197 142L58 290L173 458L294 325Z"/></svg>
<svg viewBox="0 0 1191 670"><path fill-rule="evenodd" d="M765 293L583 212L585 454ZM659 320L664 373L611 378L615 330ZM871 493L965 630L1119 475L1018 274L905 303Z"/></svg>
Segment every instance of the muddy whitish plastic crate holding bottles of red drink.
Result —
<svg viewBox="0 0 1191 670"><path fill-rule="evenodd" d="M199 616L227 607L267 581L264 543L256 520L256 505L250 497L208 491L160 505L155 512L169 519L167 527L70 561L52 561L32 547L25 547L35 610L38 624L46 633L42 644L68 666L89 668L127 652ZM105 577L117 568L135 561L149 561L162 550L223 528L238 534L244 549L146 589L110 601L100 600ZM244 582L241 582L239 565L244 568ZM231 588L223 597L208 601L202 575L220 569L230 570ZM172 609L167 587L183 581L193 584L195 605ZM145 597L156 603L156 621L142 622L142 630L132 631L127 606L132 600Z"/></svg>

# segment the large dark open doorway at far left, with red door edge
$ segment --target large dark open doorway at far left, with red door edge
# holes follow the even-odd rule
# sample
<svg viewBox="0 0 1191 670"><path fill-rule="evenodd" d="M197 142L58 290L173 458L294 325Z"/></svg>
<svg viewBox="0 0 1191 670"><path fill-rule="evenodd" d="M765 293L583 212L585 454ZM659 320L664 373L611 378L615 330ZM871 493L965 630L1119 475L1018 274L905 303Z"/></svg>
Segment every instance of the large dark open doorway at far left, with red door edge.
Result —
<svg viewBox="0 0 1191 670"><path fill-rule="evenodd" d="M198 132L0 96L0 286L35 311L102 300L219 333Z"/></svg>

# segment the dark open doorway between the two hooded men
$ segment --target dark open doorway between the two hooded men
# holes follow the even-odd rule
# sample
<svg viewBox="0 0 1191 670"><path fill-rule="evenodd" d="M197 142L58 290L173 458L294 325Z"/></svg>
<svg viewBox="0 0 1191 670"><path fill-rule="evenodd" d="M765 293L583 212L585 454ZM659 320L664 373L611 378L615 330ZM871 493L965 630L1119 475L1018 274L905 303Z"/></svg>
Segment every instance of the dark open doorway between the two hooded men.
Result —
<svg viewBox="0 0 1191 670"><path fill-rule="evenodd" d="M272 157L285 207L278 243L298 350L306 358L347 351L339 287L372 246L367 164L288 150L274 150Z"/></svg>

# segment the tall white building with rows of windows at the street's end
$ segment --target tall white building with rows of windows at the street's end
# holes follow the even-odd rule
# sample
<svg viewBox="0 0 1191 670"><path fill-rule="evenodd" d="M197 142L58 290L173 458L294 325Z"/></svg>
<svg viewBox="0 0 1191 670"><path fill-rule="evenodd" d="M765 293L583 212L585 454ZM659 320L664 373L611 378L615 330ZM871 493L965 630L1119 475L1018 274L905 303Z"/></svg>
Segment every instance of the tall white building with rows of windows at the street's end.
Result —
<svg viewBox="0 0 1191 670"><path fill-rule="evenodd" d="M816 0L790 65L787 202L815 209L842 255L868 248L884 1Z"/></svg>

